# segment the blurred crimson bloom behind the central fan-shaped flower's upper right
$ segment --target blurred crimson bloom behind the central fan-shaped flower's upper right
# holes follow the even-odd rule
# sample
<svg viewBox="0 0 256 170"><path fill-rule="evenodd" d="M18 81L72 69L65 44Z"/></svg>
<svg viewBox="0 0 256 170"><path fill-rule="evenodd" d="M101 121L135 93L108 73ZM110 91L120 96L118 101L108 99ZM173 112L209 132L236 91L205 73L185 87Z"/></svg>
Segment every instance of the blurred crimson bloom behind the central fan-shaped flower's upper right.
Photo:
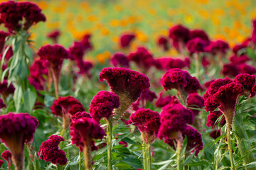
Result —
<svg viewBox="0 0 256 170"><path fill-rule="evenodd" d="M136 52L130 53L127 57L130 61L135 62L143 72L154 65L154 57L145 47L138 47Z"/></svg>

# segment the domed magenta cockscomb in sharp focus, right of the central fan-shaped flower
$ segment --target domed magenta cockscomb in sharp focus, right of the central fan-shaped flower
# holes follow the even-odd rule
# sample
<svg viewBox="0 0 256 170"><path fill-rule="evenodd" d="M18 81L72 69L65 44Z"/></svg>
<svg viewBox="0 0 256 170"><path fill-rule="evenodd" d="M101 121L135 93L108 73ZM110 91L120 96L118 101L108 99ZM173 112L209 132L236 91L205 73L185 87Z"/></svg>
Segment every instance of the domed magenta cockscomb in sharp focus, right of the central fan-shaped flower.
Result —
<svg viewBox="0 0 256 170"><path fill-rule="evenodd" d="M188 94L203 89L196 77L191 77L187 71L182 69L169 69L161 78L161 85L166 91L176 89L184 103L186 103Z"/></svg>

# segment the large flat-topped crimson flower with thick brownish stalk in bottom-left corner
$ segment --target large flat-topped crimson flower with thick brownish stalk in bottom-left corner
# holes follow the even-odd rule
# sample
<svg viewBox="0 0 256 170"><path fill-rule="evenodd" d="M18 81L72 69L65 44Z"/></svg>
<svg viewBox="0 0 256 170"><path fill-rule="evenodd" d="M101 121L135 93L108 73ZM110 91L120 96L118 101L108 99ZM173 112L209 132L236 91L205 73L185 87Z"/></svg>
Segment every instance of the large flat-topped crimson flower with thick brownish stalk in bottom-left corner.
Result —
<svg viewBox="0 0 256 170"><path fill-rule="evenodd" d="M16 169L23 169L24 143L32 142L38 120L28 113L8 113L0 115L0 123L1 142L10 149Z"/></svg>

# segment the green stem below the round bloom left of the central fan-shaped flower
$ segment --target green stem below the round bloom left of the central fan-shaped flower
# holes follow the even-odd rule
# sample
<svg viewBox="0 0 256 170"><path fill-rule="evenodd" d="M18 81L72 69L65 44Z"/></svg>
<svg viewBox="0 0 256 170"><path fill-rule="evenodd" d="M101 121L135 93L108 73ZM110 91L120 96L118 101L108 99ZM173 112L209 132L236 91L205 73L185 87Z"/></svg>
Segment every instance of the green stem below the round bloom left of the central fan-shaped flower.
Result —
<svg viewBox="0 0 256 170"><path fill-rule="evenodd" d="M112 118L107 119L107 169L112 170L111 162L112 150Z"/></svg>

